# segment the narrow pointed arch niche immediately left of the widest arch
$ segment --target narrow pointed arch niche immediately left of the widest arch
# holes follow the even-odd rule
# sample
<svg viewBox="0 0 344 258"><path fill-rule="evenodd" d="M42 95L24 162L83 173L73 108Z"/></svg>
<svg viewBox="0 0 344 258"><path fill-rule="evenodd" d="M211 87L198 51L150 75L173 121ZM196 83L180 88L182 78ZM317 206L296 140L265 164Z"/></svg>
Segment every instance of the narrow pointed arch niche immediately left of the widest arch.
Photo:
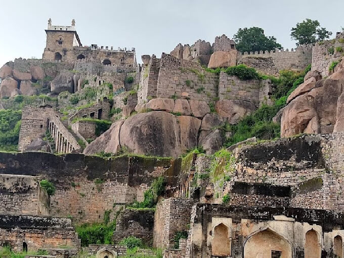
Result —
<svg viewBox="0 0 344 258"><path fill-rule="evenodd" d="M211 240L212 256L230 256L231 255L231 231L223 223L213 229L213 238Z"/></svg>

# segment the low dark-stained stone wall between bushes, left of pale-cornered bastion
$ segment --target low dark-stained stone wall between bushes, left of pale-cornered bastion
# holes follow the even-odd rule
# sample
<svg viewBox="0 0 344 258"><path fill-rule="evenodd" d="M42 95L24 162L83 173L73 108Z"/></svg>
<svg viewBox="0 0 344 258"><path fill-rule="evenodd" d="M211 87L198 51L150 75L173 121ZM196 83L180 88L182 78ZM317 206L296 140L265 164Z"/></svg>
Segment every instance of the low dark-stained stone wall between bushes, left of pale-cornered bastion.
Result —
<svg viewBox="0 0 344 258"><path fill-rule="evenodd" d="M151 244L153 238L154 210L125 209L116 220L113 240L118 243L128 236L141 238Z"/></svg>

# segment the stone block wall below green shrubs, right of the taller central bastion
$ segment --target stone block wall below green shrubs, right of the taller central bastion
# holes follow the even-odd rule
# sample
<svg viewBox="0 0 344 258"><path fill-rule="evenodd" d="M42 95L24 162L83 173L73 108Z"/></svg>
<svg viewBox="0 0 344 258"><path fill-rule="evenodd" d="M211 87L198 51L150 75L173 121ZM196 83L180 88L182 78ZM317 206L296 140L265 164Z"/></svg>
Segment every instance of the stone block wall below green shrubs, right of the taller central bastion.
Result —
<svg viewBox="0 0 344 258"><path fill-rule="evenodd" d="M221 71L219 79L220 100L245 100L259 107L271 104L272 85L268 80L240 80L236 76Z"/></svg>

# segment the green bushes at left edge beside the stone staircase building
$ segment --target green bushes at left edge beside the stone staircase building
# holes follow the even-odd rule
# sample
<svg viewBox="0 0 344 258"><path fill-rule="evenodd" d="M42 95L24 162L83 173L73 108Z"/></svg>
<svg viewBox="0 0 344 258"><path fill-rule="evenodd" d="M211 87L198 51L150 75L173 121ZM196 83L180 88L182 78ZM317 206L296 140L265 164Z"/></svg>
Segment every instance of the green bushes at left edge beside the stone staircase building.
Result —
<svg viewBox="0 0 344 258"><path fill-rule="evenodd" d="M18 149L21 110L0 110L0 150L16 151Z"/></svg>

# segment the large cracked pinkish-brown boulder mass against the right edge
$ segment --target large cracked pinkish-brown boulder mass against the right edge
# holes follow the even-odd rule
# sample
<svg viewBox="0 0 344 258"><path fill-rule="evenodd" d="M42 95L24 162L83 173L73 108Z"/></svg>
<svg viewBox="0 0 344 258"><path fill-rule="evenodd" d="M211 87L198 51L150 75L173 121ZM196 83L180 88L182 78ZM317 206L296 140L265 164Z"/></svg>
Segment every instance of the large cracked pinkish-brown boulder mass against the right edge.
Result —
<svg viewBox="0 0 344 258"><path fill-rule="evenodd" d="M289 96L281 118L281 137L344 130L344 68L326 79L315 80L315 77L307 79Z"/></svg>

